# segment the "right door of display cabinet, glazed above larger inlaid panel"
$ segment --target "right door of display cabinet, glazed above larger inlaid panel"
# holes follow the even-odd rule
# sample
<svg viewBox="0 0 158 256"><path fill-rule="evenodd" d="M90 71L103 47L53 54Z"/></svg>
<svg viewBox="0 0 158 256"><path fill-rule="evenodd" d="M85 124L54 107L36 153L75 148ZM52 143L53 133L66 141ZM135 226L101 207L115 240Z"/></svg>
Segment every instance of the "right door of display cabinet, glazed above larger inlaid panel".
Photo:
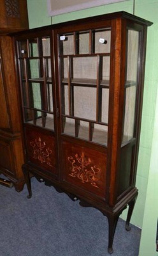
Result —
<svg viewBox="0 0 158 256"><path fill-rule="evenodd" d="M110 22L55 30L62 180L106 198Z"/></svg>

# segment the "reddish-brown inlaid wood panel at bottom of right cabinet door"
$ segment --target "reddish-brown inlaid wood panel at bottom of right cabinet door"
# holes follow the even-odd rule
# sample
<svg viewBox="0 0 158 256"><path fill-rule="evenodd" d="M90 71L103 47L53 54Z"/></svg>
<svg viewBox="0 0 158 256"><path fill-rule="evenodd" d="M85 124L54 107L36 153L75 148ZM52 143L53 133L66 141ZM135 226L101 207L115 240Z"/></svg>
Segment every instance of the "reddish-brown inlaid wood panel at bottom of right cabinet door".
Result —
<svg viewBox="0 0 158 256"><path fill-rule="evenodd" d="M63 179L105 198L106 154L63 141Z"/></svg>

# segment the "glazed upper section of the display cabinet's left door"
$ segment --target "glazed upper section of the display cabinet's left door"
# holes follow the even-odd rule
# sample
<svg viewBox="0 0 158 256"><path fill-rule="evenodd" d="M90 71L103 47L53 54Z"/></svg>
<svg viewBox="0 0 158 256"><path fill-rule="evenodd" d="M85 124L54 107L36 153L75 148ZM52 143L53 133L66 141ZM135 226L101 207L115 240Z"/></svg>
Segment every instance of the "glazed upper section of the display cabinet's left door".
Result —
<svg viewBox="0 0 158 256"><path fill-rule="evenodd" d="M17 43L24 122L54 131L50 38Z"/></svg>

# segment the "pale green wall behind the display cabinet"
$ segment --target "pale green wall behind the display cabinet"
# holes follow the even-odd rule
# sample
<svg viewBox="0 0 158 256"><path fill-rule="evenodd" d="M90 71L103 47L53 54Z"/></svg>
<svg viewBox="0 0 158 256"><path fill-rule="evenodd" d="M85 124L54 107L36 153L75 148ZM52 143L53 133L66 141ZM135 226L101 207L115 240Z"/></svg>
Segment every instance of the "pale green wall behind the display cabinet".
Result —
<svg viewBox="0 0 158 256"><path fill-rule="evenodd" d="M27 0L29 13L29 26L36 28L49 24L64 22L66 20L80 19L100 15L103 13L126 11L133 13L133 0L122 3L108 4L96 8L89 8L78 12L66 13L55 17L47 16L46 0ZM145 68L145 92L143 99L143 116L141 125L140 152L138 159L138 175L136 186L139 189L138 200L133 212L131 222L134 225L142 227L145 210L145 200L148 186L148 173L150 170L150 157L152 149L152 138L155 120L155 101L157 95L157 26L158 0L135 0L134 14L144 19L154 22L154 25L148 28L147 39L147 60ZM157 158L156 152L152 152L152 157ZM153 209L154 211L154 209ZM127 211L123 212L122 218L126 218ZM143 256L143 255L142 255ZM150 255L152 256L152 255Z"/></svg>

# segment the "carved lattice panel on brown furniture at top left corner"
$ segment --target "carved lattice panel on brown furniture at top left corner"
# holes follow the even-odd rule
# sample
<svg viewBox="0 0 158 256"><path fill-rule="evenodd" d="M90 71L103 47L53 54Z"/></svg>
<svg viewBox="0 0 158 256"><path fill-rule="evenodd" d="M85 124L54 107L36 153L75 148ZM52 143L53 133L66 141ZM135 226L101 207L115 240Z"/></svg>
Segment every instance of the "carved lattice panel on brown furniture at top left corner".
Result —
<svg viewBox="0 0 158 256"><path fill-rule="evenodd" d="M8 17L19 18L19 6L18 0L5 0L6 15Z"/></svg>

